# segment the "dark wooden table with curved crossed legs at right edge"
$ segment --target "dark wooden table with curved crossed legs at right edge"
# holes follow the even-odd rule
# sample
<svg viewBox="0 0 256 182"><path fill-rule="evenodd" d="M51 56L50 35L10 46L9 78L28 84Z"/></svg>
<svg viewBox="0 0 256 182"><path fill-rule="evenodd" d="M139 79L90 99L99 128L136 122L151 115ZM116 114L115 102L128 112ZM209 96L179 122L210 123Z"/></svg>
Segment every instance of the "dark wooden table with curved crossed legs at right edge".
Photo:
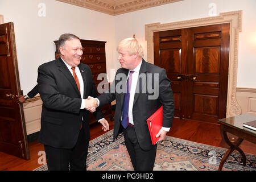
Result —
<svg viewBox="0 0 256 182"><path fill-rule="evenodd" d="M239 146L242 143L243 139L256 144L256 131L243 127L243 123L254 120L256 120L256 117L250 114L242 114L218 120L218 123L220 123L221 136L225 140L225 142L230 146L229 150L226 151L226 154L224 155L220 162L220 166L218 167L219 171L221 171L224 163L226 162L226 159L228 159L229 155L232 154L234 150L240 152L243 158L243 166L246 165L246 156L241 150L241 148L239 148ZM226 134L227 132L238 137L235 143L230 142Z"/></svg>

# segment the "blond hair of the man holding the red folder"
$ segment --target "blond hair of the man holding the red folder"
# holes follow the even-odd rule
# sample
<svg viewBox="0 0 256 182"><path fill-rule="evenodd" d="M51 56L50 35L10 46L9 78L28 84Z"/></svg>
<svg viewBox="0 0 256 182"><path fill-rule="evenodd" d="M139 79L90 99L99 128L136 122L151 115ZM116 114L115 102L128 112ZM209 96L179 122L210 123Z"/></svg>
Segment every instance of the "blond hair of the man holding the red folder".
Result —
<svg viewBox="0 0 256 182"><path fill-rule="evenodd" d="M117 51L121 48L125 48L129 55L135 55L138 53L139 57L143 57L143 48L137 39L134 38L126 38L119 42L117 46Z"/></svg>

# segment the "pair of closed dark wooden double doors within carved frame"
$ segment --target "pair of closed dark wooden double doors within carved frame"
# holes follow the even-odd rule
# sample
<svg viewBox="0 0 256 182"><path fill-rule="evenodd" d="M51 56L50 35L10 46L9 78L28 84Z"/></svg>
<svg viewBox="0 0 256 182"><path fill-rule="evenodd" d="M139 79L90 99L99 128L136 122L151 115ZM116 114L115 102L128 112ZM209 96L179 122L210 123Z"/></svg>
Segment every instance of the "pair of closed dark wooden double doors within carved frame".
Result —
<svg viewBox="0 0 256 182"><path fill-rule="evenodd" d="M154 33L154 61L172 82L175 117L225 118L229 23Z"/></svg>

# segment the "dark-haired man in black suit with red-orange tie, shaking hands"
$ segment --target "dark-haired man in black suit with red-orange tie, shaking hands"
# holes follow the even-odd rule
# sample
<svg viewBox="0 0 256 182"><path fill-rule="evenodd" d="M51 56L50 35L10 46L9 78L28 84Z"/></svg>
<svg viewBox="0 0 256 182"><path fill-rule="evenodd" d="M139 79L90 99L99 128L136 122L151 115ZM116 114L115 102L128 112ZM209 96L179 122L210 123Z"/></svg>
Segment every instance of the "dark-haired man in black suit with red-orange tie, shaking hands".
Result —
<svg viewBox="0 0 256 182"><path fill-rule="evenodd" d="M38 141L44 144L49 170L86 170L89 144L89 111L109 129L100 110L86 106L97 96L92 72L80 63L82 46L73 34L59 38L59 59L40 65L38 89L43 101ZM86 110L88 109L88 110Z"/></svg>

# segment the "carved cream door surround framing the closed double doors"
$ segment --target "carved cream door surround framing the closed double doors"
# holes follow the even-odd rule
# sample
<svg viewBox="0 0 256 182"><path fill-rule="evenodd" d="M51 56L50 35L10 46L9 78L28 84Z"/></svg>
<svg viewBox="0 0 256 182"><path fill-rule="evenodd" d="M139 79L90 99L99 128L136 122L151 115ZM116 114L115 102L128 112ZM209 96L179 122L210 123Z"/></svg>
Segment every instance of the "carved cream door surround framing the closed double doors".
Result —
<svg viewBox="0 0 256 182"><path fill-rule="evenodd" d="M154 64L154 32L221 23L230 23L229 81L226 117L231 117L240 115L242 112L241 106L238 104L236 98L238 34L242 31L242 10L220 13L219 16L184 20L181 22L146 24L147 61Z"/></svg>

